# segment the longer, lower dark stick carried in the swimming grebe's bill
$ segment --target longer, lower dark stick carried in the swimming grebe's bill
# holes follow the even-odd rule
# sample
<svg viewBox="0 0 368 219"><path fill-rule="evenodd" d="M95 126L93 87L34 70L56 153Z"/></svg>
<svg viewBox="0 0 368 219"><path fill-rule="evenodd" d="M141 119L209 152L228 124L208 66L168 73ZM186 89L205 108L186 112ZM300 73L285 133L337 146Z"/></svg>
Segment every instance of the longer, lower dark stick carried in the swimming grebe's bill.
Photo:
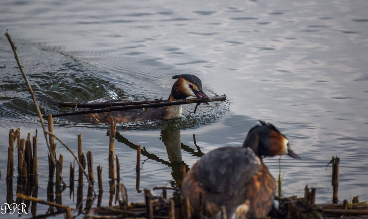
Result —
<svg viewBox="0 0 368 219"><path fill-rule="evenodd" d="M226 95L214 96L210 98L211 98L210 102L225 101ZM137 110L137 109L143 109L143 108L157 108L157 107L164 107L164 106L183 105L183 104L191 104L191 103L206 103L206 102L208 102L208 100L202 99L202 98L191 98L191 99L185 99L185 100L178 100L178 101L171 101L171 102L167 101L167 102L159 102L159 103L146 102L145 104L137 104L137 105L123 105L123 106L106 107L106 108L101 108L101 109L96 109L96 110L81 110L81 111L65 112L65 113L60 113L60 114L53 114L52 116L59 117L59 116L70 116L70 115L84 115L84 114L89 114L89 113L111 112L111 111L121 111L121 110Z"/></svg>

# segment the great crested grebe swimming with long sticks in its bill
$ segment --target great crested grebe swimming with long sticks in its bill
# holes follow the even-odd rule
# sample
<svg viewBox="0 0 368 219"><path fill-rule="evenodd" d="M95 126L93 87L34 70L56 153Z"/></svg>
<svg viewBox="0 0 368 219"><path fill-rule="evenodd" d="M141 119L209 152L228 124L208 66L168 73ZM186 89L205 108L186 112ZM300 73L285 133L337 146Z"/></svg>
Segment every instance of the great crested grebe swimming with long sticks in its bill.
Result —
<svg viewBox="0 0 368 219"><path fill-rule="evenodd" d="M171 89L171 93L168 99L169 101L183 100L189 96L211 100L203 92L202 82L197 76L183 74L175 75L173 76L173 79L177 80ZM114 118L116 118L116 122L145 121L151 119L175 119L181 117L181 110L182 105L173 105L159 108L148 108L146 111L141 109L112 111L108 113L93 113L85 115L85 118L92 123L110 122L111 116L114 116Z"/></svg>

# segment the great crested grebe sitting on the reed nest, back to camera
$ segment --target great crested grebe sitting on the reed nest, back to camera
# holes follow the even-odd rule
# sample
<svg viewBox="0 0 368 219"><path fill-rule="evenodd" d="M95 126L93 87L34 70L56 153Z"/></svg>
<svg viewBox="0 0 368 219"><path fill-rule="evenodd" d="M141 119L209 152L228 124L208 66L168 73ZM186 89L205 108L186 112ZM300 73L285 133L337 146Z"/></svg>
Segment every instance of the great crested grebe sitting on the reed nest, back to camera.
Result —
<svg viewBox="0 0 368 219"><path fill-rule="evenodd" d="M208 152L185 176L182 194L188 196L192 213L200 209L209 218L226 207L227 218L264 218L272 207L276 180L263 157L287 154L301 159L290 149L289 140L264 121L250 129L243 147L221 147ZM200 206L201 205L201 206Z"/></svg>

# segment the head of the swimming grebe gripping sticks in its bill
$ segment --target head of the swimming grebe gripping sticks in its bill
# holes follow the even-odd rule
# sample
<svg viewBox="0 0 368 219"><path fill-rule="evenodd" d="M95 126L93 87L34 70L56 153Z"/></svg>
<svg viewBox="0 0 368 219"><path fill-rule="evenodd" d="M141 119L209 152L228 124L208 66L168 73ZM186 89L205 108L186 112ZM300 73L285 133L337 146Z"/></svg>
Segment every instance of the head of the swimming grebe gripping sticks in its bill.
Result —
<svg viewBox="0 0 368 219"><path fill-rule="evenodd" d="M171 96L176 100L185 99L189 96L211 100L202 90L202 82L195 75L175 75L178 79L171 89Z"/></svg>

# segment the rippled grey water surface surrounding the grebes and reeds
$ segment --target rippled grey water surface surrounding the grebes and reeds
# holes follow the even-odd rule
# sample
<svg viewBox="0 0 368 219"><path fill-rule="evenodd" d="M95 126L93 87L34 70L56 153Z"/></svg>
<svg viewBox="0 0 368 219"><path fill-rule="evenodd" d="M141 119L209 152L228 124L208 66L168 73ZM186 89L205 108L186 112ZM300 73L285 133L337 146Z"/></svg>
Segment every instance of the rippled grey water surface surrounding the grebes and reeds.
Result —
<svg viewBox="0 0 368 219"><path fill-rule="evenodd" d="M227 95L229 101L201 105L196 114L187 105L174 121L118 125L115 153L129 201L143 200L135 191L134 146L155 155L145 161L142 156L142 188L174 185L177 164L191 167L201 153L240 146L258 119L279 127L303 158L282 159L284 196L302 196L308 184L317 187L316 202L329 202L331 169L325 167L338 155L339 198L359 195L367 201L367 7L367 1L313 0L1 1L0 33L9 30L44 114L59 112L53 100L167 98L171 76L180 73L197 75L209 96ZM0 191L5 194L8 129L21 128L25 138L41 127L3 34L0 60ZM82 133L94 165L107 168L108 125L77 116L55 123L55 133L75 151L76 135ZM57 150L68 168L72 157L61 145ZM38 151L38 197L46 199L42 137ZM278 159L265 162L277 176ZM64 196L63 204L75 205ZM46 211L38 206L39 214Z"/></svg>

